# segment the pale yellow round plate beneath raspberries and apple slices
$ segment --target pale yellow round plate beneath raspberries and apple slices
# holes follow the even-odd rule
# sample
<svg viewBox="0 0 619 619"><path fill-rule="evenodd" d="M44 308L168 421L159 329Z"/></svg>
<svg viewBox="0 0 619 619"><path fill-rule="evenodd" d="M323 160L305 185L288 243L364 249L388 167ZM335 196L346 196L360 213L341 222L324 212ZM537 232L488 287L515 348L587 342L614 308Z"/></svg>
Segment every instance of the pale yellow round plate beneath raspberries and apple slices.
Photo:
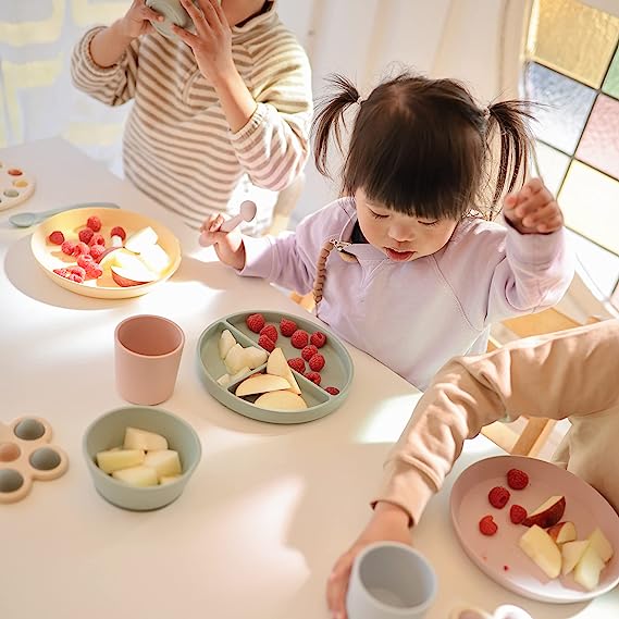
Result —
<svg viewBox="0 0 619 619"><path fill-rule="evenodd" d="M119 286L109 273L103 273L98 280L86 280L83 284L57 275L53 272L54 269L75 264L76 259L63 253L60 250L60 246L53 245L47 237L53 231L60 230L64 234L65 239L77 240L79 231L86 227L87 219L92 215L97 215L101 220L100 234L103 235L108 244L110 230L116 225L125 230L127 237L143 227L152 227L159 236L159 245L161 245L170 257L170 267L154 282L126 287ZM53 215L37 226L30 239L30 247L41 269L59 286L72 293L77 293L78 295L100 299L126 299L146 295L152 290L154 286L168 280L176 269L178 269L178 264L181 263L181 244L165 226L143 214L122 209L84 208L73 209Z"/></svg>

